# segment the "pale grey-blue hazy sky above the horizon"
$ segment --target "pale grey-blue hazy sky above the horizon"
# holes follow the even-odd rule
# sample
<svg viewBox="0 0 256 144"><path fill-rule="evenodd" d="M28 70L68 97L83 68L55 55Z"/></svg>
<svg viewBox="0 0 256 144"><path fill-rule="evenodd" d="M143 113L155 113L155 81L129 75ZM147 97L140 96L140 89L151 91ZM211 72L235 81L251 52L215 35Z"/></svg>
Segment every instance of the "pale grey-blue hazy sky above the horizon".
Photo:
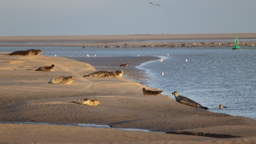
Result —
<svg viewBox="0 0 256 144"><path fill-rule="evenodd" d="M0 0L0 36L256 33L255 7L256 0Z"/></svg>

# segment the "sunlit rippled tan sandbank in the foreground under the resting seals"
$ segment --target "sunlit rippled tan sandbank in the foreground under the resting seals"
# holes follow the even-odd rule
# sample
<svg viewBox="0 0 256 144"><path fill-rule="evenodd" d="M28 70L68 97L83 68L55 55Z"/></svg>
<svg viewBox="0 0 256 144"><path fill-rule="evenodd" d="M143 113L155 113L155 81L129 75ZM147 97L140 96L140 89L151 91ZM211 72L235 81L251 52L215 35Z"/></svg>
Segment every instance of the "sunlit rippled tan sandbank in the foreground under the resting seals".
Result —
<svg viewBox="0 0 256 144"><path fill-rule="evenodd" d="M83 78L95 68L72 59L5 54L0 54L0 122L92 123L190 135L0 123L1 143L256 142L256 121L250 118L193 108L177 103L168 95L143 95L145 85L125 78ZM51 64L56 66L53 72L33 71ZM68 85L48 83L50 78L61 75L73 76L75 81ZM97 106L71 103L83 98L98 99L101 103ZM211 137L195 136L198 134Z"/></svg>

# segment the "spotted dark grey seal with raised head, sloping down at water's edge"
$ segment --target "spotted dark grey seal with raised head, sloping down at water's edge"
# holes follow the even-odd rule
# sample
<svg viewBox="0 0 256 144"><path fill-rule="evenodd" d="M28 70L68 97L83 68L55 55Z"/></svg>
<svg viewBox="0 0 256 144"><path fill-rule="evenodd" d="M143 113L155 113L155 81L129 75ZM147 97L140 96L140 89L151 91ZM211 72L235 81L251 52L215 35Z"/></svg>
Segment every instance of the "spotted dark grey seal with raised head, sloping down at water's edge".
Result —
<svg viewBox="0 0 256 144"><path fill-rule="evenodd" d="M208 109L207 107L203 107L201 104L198 104L197 102L189 99L188 97L180 96L179 92L177 92L177 91L172 92L172 94L175 96L176 101L181 103L181 104L186 104L188 106L195 106L195 107L198 107L198 108Z"/></svg>

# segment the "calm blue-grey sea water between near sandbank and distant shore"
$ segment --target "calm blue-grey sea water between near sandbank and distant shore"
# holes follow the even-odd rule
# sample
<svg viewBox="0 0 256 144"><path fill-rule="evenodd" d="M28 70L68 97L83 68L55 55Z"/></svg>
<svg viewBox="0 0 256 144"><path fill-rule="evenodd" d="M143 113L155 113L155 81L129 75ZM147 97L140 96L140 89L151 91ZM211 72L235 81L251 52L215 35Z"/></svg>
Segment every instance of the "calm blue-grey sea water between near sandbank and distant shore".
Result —
<svg viewBox="0 0 256 144"><path fill-rule="evenodd" d="M242 47L243 50L231 50L231 47L0 47L0 52L27 49L41 49L46 56L158 56L163 62L150 61L137 66L145 69L149 76L140 80L141 83L164 89L163 94L173 99L172 92L178 91L212 112L256 120L255 47ZM219 109L219 104L228 108Z"/></svg>

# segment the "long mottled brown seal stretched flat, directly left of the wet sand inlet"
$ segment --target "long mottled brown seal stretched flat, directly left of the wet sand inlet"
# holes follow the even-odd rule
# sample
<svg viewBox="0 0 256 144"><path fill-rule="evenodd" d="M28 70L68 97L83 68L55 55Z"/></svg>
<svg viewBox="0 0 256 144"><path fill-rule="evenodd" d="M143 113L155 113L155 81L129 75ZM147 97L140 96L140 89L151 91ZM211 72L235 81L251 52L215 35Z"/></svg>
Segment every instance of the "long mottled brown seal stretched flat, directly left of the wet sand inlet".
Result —
<svg viewBox="0 0 256 144"><path fill-rule="evenodd" d="M122 77L122 76L123 76L123 70L119 70L119 71L96 71L96 72L91 73L89 75L84 75L84 77L107 77L107 78Z"/></svg>

